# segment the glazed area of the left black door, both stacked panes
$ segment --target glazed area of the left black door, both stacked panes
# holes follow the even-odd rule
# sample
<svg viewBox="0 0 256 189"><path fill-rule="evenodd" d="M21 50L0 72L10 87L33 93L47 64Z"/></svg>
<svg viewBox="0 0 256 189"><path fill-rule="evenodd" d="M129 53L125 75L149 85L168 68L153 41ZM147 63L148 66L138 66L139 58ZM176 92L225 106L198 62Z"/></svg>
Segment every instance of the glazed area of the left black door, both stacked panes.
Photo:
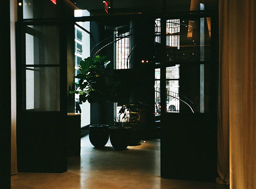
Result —
<svg viewBox="0 0 256 189"><path fill-rule="evenodd" d="M60 111L59 27L25 26L23 109Z"/></svg>

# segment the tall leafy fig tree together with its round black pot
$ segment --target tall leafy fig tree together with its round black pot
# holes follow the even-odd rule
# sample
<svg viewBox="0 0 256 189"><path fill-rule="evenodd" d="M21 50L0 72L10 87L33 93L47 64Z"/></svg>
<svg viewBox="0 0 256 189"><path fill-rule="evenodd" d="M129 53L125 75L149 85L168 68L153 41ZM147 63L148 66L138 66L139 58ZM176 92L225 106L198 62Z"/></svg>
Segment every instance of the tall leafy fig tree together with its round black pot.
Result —
<svg viewBox="0 0 256 189"><path fill-rule="evenodd" d="M78 94L79 101L98 103L99 124L89 127L90 142L96 148L104 147L109 139L109 126L104 124L103 108L108 100L116 96L116 86L120 84L119 81L114 80L113 66L106 58L107 56L97 55L94 59L88 57L81 60L79 66L81 73L76 76L80 80L75 83L78 89L70 92Z"/></svg>

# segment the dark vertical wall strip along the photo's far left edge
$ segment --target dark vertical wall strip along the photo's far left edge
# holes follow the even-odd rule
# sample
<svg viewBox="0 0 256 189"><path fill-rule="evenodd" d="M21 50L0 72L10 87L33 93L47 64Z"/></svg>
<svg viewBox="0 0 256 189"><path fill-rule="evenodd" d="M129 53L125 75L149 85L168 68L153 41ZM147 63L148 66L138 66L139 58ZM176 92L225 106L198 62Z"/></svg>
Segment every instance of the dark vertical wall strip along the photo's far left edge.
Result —
<svg viewBox="0 0 256 189"><path fill-rule="evenodd" d="M11 57L10 57L10 1L1 2L0 30L0 185L1 188L10 188L11 175Z"/></svg>

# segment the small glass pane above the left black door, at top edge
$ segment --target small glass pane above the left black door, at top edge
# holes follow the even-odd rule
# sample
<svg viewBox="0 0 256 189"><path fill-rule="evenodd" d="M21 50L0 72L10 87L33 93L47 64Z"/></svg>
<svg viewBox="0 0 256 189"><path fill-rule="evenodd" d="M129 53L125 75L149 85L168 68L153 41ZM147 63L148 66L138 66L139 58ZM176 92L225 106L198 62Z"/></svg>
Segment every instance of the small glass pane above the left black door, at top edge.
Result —
<svg viewBox="0 0 256 189"><path fill-rule="evenodd" d="M23 18L56 18L56 0L23 0Z"/></svg>

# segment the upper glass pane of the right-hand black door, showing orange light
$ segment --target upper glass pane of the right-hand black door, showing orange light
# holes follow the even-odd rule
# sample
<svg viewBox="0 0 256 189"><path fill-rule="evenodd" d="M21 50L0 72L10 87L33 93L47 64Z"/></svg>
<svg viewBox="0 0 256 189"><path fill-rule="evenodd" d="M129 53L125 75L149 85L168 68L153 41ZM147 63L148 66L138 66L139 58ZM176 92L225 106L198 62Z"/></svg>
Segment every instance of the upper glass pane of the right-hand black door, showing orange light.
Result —
<svg viewBox="0 0 256 189"><path fill-rule="evenodd" d="M211 18L166 21L166 60L207 61L210 50Z"/></svg>

